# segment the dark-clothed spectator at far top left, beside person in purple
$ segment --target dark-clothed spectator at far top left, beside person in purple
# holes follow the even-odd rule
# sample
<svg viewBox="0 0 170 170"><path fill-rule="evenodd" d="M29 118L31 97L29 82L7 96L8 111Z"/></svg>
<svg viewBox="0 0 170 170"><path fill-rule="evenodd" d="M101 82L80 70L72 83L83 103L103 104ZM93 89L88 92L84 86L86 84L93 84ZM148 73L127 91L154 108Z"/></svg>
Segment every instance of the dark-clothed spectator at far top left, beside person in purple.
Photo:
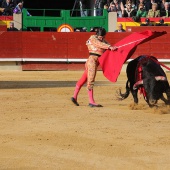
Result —
<svg viewBox="0 0 170 170"><path fill-rule="evenodd" d="M4 16L12 16L13 15L13 9L14 9L14 5L11 2L11 0L4 0L2 2L2 8L4 8L4 12L2 13L2 15Z"/></svg>

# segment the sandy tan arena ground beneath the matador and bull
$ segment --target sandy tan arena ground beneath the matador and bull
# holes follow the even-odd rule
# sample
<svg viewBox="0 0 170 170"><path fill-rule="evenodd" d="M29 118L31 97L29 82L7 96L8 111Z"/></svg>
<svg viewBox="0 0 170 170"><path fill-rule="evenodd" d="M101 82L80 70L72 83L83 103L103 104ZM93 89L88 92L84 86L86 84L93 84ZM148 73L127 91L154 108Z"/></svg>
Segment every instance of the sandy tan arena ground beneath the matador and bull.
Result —
<svg viewBox="0 0 170 170"><path fill-rule="evenodd" d="M125 73L113 84L101 71L94 93L104 107L88 107L86 87L76 107L81 74L0 71L0 170L169 170L170 107L116 100Z"/></svg>

